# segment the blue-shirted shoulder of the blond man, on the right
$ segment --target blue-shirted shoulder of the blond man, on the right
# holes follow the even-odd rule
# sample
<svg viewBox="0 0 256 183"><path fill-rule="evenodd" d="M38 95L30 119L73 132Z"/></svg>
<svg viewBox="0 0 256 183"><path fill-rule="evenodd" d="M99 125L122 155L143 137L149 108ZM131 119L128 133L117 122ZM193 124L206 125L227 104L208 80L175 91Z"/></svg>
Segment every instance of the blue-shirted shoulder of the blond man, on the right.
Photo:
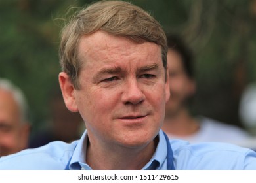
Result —
<svg viewBox="0 0 256 183"><path fill-rule="evenodd" d="M256 169L256 152L233 144L170 141L177 169Z"/></svg>

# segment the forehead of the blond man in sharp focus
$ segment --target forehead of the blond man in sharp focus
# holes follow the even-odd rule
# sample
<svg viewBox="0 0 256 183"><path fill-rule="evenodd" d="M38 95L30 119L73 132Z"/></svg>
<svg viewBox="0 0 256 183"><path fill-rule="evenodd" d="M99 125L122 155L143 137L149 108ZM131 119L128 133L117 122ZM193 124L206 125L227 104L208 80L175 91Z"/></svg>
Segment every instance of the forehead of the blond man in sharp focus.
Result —
<svg viewBox="0 0 256 183"><path fill-rule="evenodd" d="M109 62L116 59L125 61L135 58L161 60L161 47L157 44L151 42L138 44L125 37L110 35L104 31L81 37L78 53L79 60L85 64L88 64L87 61Z"/></svg>

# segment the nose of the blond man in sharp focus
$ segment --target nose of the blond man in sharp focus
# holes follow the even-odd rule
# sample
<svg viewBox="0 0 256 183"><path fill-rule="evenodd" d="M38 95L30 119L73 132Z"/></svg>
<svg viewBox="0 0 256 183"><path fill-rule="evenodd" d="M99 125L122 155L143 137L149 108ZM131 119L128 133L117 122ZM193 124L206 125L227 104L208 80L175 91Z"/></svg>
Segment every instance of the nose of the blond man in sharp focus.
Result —
<svg viewBox="0 0 256 183"><path fill-rule="evenodd" d="M125 83L121 99L123 103L132 105L137 105L144 101L145 95L136 79L129 80Z"/></svg>

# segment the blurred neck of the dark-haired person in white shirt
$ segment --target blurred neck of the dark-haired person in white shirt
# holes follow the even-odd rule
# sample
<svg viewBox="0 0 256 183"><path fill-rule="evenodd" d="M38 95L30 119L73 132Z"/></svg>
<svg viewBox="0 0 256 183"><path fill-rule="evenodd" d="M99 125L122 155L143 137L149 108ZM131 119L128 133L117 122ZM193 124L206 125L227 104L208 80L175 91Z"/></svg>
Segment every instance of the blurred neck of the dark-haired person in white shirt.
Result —
<svg viewBox="0 0 256 183"><path fill-rule="evenodd" d="M196 133L199 127L198 121L190 116L186 108L182 108L175 115L165 118L162 129L166 133L182 137Z"/></svg>

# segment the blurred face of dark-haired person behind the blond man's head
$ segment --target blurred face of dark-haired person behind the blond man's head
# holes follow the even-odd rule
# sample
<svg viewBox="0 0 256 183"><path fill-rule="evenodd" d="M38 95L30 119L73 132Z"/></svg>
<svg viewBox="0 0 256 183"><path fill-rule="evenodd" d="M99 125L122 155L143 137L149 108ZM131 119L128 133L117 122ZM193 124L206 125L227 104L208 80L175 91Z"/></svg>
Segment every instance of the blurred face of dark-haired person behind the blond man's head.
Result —
<svg viewBox="0 0 256 183"><path fill-rule="evenodd" d="M167 63L171 97L166 104L166 117L173 116L186 107L186 101L195 92L194 80L186 75L181 59L177 52L168 50Z"/></svg>

